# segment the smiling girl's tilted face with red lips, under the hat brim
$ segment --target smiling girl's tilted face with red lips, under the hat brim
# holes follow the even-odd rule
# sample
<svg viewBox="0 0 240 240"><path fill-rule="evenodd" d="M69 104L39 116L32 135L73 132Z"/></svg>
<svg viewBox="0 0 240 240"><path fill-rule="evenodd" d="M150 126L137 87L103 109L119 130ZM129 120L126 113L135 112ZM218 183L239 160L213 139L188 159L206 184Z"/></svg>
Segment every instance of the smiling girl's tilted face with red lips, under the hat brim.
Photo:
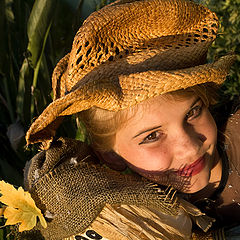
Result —
<svg viewBox="0 0 240 240"><path fill-rule="evenodd" d="M216 165L217 128L196 96L155 97L116 134L114 151L136 172L183 192L204 188Z"/></svg>

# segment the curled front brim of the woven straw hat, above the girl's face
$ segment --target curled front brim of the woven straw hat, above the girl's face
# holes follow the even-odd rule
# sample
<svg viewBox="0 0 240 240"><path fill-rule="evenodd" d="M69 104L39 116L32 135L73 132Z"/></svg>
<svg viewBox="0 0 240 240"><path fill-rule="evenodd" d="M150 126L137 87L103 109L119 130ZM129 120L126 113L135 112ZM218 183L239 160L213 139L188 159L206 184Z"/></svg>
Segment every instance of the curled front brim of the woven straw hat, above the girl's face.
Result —
<svg viewBox="0 0 240 240"><path fill-rule="evenodd" d="M206 82L221 84L234 60L235 55L226 55L214 63L181 70L151 70L132 74L126 70L126 75L111 74L105 75L104 78L98 76L96 81L92 79L99 72L93 71L84 77L73 91L53 101L43 111L27 132L27 144L51 141L63 116L78 113L92 106L119 111L178 89ZM111 68L108 65L109 67Z"/></svg>

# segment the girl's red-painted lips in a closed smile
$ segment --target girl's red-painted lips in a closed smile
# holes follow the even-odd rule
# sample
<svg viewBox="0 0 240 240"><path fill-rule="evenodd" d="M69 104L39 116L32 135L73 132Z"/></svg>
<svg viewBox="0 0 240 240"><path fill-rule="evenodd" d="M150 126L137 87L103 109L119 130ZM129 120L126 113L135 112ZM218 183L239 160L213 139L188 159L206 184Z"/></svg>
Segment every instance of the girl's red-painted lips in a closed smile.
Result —
<svg viewBox="0 0 240 240"><path fill-rule="evenodd" d="M202 156L199 159L197 159L194 163L187 165L182 169L178 170L177 174L179 176L192 177L200 173L204 167L205 167L205 157Z"/></svg>

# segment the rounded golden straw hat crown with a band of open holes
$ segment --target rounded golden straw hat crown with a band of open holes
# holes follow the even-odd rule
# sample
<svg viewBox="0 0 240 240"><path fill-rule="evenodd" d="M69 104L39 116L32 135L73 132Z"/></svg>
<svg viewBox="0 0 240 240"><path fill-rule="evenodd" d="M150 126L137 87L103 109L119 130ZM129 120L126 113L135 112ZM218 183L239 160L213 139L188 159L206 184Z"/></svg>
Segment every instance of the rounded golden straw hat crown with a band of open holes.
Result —
<svg viewBox="0 0 240 240"><path fill-rule="evenodd" d="M94 68L120 58L141 61L150 54L149 68L165 70L199 65L217 28L216 15L190 1L118 1L93 13L77 32L64 92Z"/></svg>

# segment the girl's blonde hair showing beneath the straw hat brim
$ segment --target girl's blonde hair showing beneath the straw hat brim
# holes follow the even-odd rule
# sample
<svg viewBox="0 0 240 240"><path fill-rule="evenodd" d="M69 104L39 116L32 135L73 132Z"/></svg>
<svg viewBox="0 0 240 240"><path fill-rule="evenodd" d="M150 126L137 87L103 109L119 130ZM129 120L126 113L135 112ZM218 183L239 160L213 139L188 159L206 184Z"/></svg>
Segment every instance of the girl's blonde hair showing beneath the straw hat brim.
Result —
<svg viewBox="0 0 240 240"><path fill-rule="evenodd" d="M209 107L209 105L213 105L217 101L217 90L218 86L216 84L205 83L169 92L162 96L166 97L166 99L183 100L196 95ZM78 113L77 118L84 124L91 146L97 151L109 152L114 146L117 131L134 116L138 109L137 106L118 112L92 107Z"/></svg>

